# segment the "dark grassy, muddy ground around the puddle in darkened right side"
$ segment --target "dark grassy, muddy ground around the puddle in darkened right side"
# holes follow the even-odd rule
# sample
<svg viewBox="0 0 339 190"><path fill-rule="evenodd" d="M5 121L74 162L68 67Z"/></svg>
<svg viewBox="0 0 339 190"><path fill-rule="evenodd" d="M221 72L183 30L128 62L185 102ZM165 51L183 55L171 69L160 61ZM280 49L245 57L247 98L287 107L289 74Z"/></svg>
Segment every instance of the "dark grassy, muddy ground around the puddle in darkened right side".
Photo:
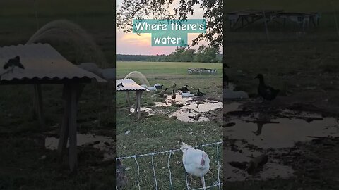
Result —
<svg viewBox="0 0 339 190"><path fill-rule="evenodd" d="M246 91L250 96L250 99L240 101L243 108L253 114L270 115L268 118L272 120L283 118L284 115L280 113L282 110L291 110L296 117L307 112L320 118L338 119L339 41L333 35L333 30L328 30L330 29L319 28L307 31L301 37L294 32L270 32L269 41L259 30L227 32L228 45L224 47L225 63L230 66L226 70L227 75L230 82L236 84L235 90ZM258 39L258 36L261 38ZM270 103L257 100L258 81L254 77L258 73L264 75L266 84L280 89L278 98ZM224 120L230 121L242 116L244 115L224 114ZM291 120L297 120L296 117ZM263 131L265 129L263 127ZM234 144L234 139L227 138L230 134L226 130L229 132L230 127L224 125L225 146L230 147ZM225 188L338 189L339 140L334 137L338 134L296 141L294 146L273 148L271 151L250 147L252 151L266 152L268 161L279 160L280 165L290 167L293 175L232 181L227 179L226 170ZM230 148L225 148L224 160L227 151L229 154L234 153L234 150L230 152Z"/></svg>

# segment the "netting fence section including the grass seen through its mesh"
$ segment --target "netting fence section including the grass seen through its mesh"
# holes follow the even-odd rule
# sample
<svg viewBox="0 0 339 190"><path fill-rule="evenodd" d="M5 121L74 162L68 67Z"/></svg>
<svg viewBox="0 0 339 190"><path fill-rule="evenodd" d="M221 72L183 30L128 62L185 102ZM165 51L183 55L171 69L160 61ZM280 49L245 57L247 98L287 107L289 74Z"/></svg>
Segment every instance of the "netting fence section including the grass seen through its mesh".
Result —
<svg viewBox="0 0 339 190"><path fill-rule="evenodd" d="M116 158L121 160L126 167L129 189L222 189L222 141L210 144L202 144L192 148L206 151L210 158L210 171L212 175L203 176L206 187L196 183L195 189L189 182L189 174L182 163L182 150L145 153L133 156ZM134 166L132 169L131 167ZM185 184L186 183L186 184ZM198 187L200 186L200 187Z"/></svg>

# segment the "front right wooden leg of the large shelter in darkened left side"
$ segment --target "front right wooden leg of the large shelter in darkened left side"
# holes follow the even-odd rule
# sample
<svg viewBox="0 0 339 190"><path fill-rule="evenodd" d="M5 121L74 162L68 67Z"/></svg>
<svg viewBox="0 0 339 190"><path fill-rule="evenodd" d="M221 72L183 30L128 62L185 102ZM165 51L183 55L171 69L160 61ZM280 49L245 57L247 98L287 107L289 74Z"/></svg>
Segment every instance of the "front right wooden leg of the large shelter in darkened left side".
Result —
<svg viewBox="0 0 339 190"><path fill-rule="evenodd" d="M69 114L69 168L71 172L76 172L78 165L77 151L76 151L76 113L78 111L77 92L79 84L71 84L70 97L70 114Z"/></svg>

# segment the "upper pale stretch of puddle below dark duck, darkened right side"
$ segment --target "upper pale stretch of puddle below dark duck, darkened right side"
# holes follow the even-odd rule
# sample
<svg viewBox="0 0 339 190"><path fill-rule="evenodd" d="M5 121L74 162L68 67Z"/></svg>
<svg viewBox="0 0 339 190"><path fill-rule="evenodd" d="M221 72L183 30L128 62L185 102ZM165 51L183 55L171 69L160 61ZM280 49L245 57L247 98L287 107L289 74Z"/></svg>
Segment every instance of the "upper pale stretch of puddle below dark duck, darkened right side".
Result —
<svg viewBox="0 0 339 190"><path fill-rule="evenodd" d="M335 118L307 122L296 118L278 118L271 123L252 123L232 120L236 125L225 128L230 139L244 139L260 148L287 148L297 141L310 141L312 137L339 136ZM275 123L274 123L275 122Z"/></svg>

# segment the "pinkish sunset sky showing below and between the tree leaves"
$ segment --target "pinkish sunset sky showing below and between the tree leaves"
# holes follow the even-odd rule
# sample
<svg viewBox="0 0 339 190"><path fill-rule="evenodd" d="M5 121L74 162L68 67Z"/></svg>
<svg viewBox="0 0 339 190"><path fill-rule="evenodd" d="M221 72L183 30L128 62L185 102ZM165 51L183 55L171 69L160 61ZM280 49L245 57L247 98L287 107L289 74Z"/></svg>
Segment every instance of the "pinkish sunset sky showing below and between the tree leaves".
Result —
<svg viewBox="0 0 339 190"><path fill-rule="evenodd" d="M117 0L117 6L120 7L123 0ZM179 4L179 0L174 0L174 5ZM190 19L203 18L203 10L196 6L194 15L189 17ZM192 39L197 37L198 34L189 34L189 43ZM201 42L200 44L206 44ZM151 46L150 34L127 34L120 30L117 30L117 54L134 54L134 55L156 55L156 54L169 54L175 50L176 47L153 47ZM193 49L198 49L198 45Z"/></svg>

